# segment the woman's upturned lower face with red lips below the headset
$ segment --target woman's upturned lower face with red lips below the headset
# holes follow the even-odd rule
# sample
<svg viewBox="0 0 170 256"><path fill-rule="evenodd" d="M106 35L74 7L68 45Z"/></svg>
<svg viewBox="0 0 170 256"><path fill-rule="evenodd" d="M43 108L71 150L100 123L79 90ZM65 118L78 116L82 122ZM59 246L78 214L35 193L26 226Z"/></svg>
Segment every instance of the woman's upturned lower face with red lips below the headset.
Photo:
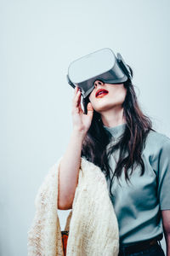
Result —
<svg viewBox="0 0 170 256"><path fill-rule="evenodd" d="M123 84L105 84L102 81L94 82L94 90L88 96L94 110L98 113L110 110L111 108L122 108L122 103L125 100L127 89ZM96 95L98 90L104 92ZM106 90L106 91L105 91Z"/></svg>

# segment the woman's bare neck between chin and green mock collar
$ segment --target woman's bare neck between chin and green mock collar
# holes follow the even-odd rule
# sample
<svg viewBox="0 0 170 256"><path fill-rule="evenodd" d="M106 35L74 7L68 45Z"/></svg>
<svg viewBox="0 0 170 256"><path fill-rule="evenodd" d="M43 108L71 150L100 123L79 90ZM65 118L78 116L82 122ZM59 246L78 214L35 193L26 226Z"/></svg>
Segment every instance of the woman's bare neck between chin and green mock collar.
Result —
<svg viewBox="0 0 170 256"><path fill-rule="evenodd" d="M123 117L123 108L112 108L100 114L103 124L107 127L114 127L126 123L126 119Z"/></svg>

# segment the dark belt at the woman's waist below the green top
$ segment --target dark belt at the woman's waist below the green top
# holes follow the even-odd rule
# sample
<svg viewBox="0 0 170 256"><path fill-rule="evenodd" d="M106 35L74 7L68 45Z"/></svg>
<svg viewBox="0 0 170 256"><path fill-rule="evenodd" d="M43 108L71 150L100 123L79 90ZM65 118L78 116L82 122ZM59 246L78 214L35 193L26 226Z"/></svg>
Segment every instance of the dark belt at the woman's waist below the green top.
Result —
<svg viewBox="0 0 170 256"><path fill-rule="evenodd" d="M152 246L155 246L156 244L158 244L157 241L157 238L154 238L147 241L140 241L133 245L120 245L119 255L121 255L122 253L139 253L139 251L146 250Z"/></svg>

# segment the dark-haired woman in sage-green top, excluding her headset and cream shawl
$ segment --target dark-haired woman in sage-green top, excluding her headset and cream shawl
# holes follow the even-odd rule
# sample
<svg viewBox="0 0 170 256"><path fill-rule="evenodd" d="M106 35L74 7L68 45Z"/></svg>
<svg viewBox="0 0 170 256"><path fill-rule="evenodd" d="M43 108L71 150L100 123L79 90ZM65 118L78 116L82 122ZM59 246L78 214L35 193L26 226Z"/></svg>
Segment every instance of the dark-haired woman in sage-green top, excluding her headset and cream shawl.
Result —
<svg viewBox="0 0 170 256"><path fill-rule="evenodd" d="M59 168L59 209L71 209L85 157L105 173L119 224L119 254L164 255L159 242L164 231L170 256L170 139L151 128L130 79L95 80L83 107L84 112L76 87L73 131Z"/></svg>

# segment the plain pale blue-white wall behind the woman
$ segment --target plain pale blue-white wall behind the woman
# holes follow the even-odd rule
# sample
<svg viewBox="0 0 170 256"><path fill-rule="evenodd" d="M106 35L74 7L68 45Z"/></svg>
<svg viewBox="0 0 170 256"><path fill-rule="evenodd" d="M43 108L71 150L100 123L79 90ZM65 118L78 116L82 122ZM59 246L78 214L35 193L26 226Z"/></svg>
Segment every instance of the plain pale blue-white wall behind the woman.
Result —
<svg viewBox="0 0 170 256"><path fill-rule="evenodd" d="M133 67L140 105L170 137L167 0L0 1L0 255L27 254L34 199L71 135L68 65L109 47ZM59 211L61 226L70 211Z"/></svg>

